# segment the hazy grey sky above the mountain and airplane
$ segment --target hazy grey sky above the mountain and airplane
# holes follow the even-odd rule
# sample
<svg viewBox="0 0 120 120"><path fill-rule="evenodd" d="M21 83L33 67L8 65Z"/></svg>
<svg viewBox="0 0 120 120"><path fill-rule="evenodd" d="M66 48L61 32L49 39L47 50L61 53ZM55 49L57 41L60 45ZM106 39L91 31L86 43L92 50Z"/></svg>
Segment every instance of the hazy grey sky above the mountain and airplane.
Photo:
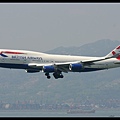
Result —
<svg viewBox="0 0 120 120"><path fill-rule="evenodd" d="M120 40L119 3L0 4L0 48L48 51Z"/></svg>

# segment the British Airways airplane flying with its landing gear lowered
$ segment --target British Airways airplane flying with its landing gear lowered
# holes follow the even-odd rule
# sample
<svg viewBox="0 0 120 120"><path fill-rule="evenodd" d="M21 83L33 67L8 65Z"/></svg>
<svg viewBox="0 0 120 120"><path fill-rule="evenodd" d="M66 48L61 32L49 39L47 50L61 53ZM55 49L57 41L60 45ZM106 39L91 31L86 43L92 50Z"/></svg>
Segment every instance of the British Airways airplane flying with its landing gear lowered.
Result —
<svg viewBox="0 0 120 120"><path fill-rule="evenodd" d="M43 72L50 79L63 78L63 72L92 72L120 67L120 45L103 57L57 55L27 50L0 49L0 67Z"/></svg>

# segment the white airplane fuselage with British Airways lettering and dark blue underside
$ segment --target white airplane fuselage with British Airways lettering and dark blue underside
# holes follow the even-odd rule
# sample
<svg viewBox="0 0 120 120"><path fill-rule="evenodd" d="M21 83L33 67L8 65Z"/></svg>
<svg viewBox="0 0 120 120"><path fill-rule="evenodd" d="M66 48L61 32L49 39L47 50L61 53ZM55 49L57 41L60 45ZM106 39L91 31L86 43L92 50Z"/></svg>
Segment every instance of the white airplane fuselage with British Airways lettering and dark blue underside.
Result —
<svg viewBox="0 0 120 120"><path fill-rule="evenodd" d="M26 50L0 49L0 51L2 51L2 55L0 56L0 67L16 69L27 69L29 67L28 64L30 63L47 65L49 63L55 64L101 58L87 56L54 55ZM114 67L120 67L120 61L116 58L111 58L94 62L94 64L85 67L98 70L109 69Z"/></svg>

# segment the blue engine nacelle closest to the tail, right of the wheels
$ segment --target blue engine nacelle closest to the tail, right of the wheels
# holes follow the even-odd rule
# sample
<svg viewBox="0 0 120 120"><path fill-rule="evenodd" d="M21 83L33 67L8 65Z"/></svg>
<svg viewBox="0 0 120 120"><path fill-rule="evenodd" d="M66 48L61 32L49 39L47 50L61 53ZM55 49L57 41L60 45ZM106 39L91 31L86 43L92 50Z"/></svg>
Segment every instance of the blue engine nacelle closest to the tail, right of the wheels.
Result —
<svg viewBox="0 0 120 120"><path fill-rule="evenodd" d="M69 66L69 70L73 72L81 72L82 69L83 69L83 65L80 63L70 64Z"/></svg>

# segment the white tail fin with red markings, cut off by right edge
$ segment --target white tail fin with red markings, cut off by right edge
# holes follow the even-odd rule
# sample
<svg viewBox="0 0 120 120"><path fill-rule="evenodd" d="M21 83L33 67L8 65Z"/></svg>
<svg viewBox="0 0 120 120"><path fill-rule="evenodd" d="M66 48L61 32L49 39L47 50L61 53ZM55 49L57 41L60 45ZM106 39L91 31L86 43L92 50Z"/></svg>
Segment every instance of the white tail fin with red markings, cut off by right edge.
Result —
<svg viewBox="0 0 120 120"><path fill-rule="evenodd" d="M120 45L105 56L106 58L117 58L120 60Z"/></svg>

